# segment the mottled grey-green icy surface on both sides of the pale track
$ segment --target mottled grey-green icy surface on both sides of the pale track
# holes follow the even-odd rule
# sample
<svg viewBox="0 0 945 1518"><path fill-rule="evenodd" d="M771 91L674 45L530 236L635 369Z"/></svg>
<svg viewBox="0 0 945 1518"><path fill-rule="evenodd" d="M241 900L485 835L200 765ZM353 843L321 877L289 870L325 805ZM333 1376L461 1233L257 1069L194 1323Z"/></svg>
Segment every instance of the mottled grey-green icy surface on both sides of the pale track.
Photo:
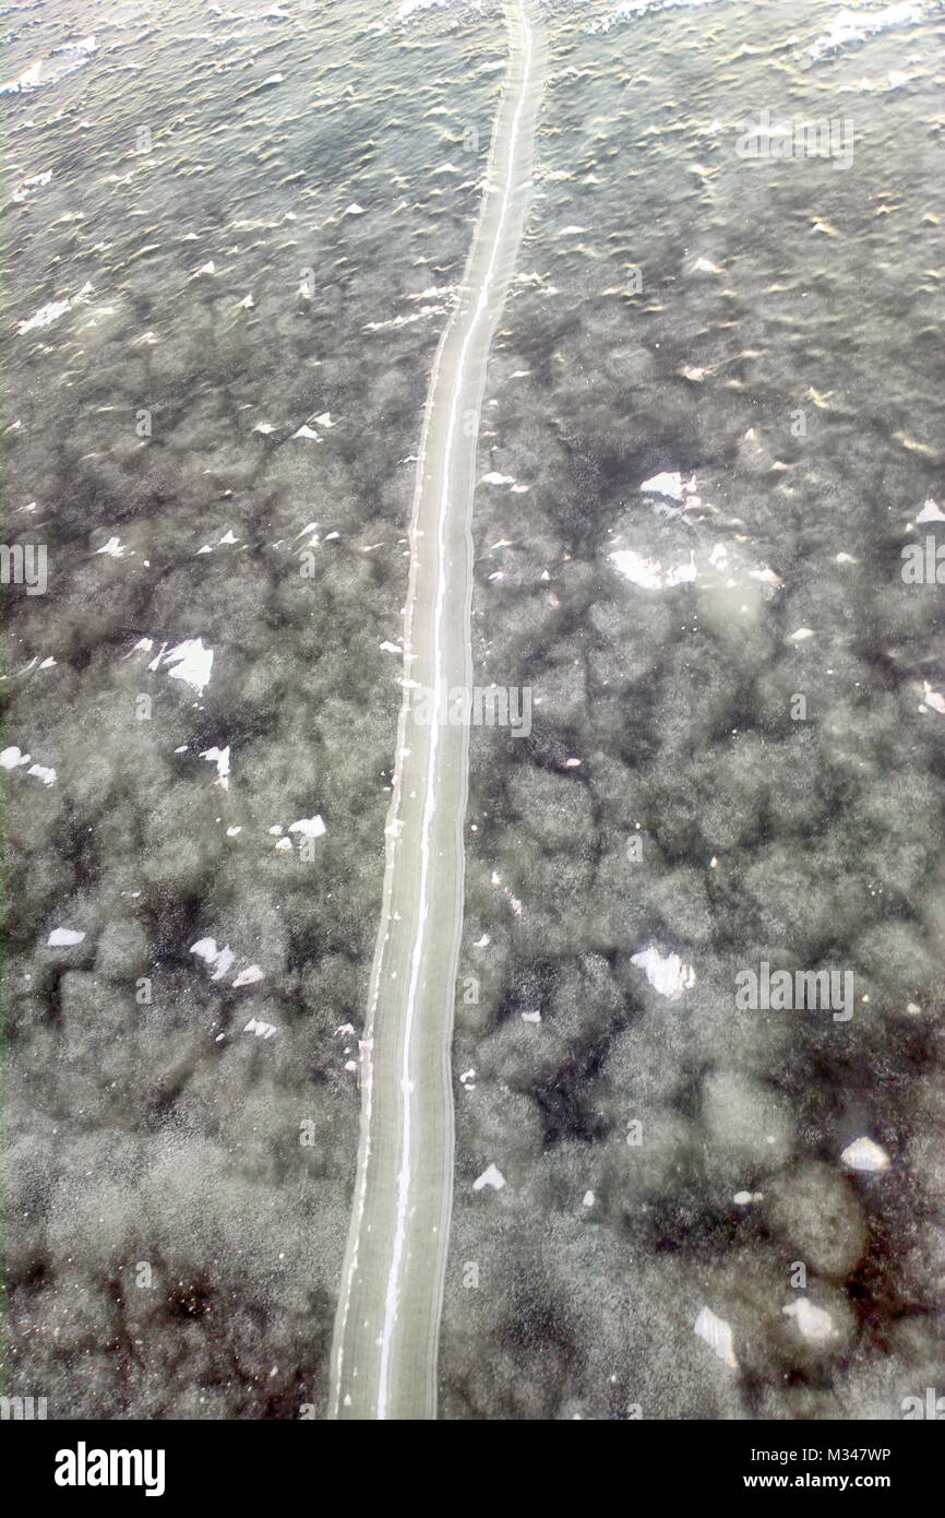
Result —
<svg viewBox="0 0 945 1518"><path fill-rule="evenodd" d="M942 6L543 12L472 601L532 730L470 744L440 1415L896 1418L943 1374L942 591L901 574ZM323 1416L502 14L6 26L5 542L49 591L5 591L5 1390ZM851 165L740 158L763 109ZM763 965L852 1016L740 1008Z"/></svg>

